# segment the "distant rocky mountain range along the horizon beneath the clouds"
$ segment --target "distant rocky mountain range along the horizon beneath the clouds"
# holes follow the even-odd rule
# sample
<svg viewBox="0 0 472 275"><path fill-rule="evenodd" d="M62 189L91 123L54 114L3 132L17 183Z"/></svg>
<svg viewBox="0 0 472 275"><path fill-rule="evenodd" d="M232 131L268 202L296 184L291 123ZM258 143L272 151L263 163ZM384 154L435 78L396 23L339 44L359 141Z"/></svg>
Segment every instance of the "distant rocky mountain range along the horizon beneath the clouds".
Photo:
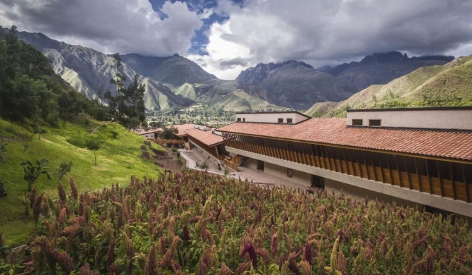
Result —
<svg viewBox="0 0 472 275"><path fill-rule="evenodd" d="M113 93L112 56L58 42L42 33L18 32L18 37L42 51L54 71L87 97L97 98L98 91ZM139 82L146 85L144 99L149 111L196 103L233 111L306 110L316 102L342 101L364 86L389 82L418 67L447 63L447 58L410 59L393 52L335 67L313 68L300 61L260 63L242 71L236 80L220 80L178 54L123 54L121 73L128 80L138 75Z"/></svg>

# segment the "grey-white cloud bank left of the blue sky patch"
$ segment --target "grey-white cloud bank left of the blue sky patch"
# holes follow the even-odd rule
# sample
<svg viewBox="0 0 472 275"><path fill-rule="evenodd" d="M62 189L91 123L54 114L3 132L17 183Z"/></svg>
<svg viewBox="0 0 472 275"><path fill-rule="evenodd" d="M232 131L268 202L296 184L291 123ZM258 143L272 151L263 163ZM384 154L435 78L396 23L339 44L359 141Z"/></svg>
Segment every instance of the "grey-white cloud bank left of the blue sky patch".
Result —
<svg viewBox="0 0 472 275"><path fill-rule="evenodd" d="M185 54L203 25L179 1L166 1L159 13L147 0L2 0L0 10L1 23L107 53Z"/></svg>

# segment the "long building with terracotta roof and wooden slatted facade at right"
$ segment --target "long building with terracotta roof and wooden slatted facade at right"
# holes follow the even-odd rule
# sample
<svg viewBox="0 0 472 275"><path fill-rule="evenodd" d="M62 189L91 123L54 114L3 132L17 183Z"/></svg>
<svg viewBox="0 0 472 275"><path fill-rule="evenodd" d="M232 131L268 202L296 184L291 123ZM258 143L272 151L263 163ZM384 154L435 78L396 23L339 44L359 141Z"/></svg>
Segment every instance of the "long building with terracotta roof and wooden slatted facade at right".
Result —
<svg viewBox="0 0 472 275"><path fill-rule="evenodd" d="M347 118L238 113L237 119L218 130L244 166L472 217L472 107L352 110Z"/></svg>

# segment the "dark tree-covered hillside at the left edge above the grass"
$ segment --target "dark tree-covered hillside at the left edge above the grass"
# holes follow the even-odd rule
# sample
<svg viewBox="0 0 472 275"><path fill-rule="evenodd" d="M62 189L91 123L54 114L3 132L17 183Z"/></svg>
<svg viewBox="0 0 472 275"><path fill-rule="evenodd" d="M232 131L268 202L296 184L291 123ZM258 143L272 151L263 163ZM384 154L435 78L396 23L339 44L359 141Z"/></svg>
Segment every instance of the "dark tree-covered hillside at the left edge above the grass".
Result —
<svg viewBox="0 0 472 275"><path fill-rule="evenodd" d="M56 75L51 63L32 46L18 40L16 28L0 28L0 117L57 126L87 112L104 119L104 109L73 90Z"/></svg>

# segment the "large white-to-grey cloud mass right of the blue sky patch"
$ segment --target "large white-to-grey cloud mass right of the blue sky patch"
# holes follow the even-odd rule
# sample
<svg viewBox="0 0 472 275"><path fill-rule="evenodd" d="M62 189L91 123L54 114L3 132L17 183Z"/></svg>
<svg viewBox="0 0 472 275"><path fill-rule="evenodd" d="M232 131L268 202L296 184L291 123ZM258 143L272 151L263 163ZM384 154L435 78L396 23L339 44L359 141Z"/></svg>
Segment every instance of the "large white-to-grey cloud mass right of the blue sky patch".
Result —
<svg viewBox="0 0 472 275"><path fill-rule="evenodd" d="M453 54L472 43L467 0L247 0L242 7L221 0L215 12L229 19L211 26L208 56L190 57L229 79L244 69L228 66L238 58L247 66L290 59L321 66L373 52Z"/></svg>

